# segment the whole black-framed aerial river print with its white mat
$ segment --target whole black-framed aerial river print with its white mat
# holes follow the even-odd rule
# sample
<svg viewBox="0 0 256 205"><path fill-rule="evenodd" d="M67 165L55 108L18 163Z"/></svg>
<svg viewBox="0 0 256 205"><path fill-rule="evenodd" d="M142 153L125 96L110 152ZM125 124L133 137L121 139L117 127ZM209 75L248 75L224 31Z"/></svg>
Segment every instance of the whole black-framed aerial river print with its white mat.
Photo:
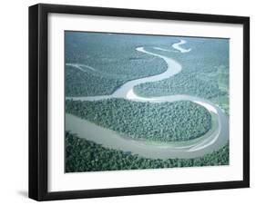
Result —
<svg viewBox="0 0 256 205"><path fill-rule="evenodd" d="M29 7L29 197L250 185L250 19Z"/></svg>

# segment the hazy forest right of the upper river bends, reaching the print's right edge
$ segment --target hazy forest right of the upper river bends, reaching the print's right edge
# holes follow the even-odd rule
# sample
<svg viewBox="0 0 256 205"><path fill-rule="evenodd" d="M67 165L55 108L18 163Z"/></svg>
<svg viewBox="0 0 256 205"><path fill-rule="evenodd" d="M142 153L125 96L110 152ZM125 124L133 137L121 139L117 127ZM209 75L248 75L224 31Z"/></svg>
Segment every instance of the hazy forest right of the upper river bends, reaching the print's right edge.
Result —
<svg viewBox="0 0 256 205"><path fill-rule="evenodd" d="M134 91L139 96L154 97L189 94L220 105L229 114L229 40L189 38L184 47L192 48L181 54L146 47L149 52L169 56L181 63L182 71L165 80L140 83ZM161 46L168 50L170 46Z"/></svg>

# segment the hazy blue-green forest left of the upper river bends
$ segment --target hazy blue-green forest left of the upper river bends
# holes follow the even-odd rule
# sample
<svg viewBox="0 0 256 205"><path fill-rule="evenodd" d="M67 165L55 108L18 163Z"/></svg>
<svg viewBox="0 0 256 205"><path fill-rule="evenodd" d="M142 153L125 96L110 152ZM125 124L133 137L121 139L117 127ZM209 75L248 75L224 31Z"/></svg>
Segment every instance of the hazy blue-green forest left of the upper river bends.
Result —
<svg viewBox="0 0 256 205"><path fill-rule="evenodd" d="M155 43L163 42L155 37ZM93 96L113 93L130 80L167 70L160 58L136 51L139 44L154 44L147 35L66 32L65 62L87 65L84 72L66 65L66 95Z"/></svg>

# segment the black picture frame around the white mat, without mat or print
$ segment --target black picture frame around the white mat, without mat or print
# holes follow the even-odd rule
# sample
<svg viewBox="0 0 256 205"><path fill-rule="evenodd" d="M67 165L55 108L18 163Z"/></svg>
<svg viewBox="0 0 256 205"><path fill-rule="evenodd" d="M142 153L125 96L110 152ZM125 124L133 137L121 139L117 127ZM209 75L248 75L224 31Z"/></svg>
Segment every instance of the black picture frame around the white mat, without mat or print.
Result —
<svg viewBox="0 0 256 205"><path fill-rule="evenodd" d="M243 25L243 180L101 190L47 190L47 16L50 13L121 16ZM76 5L29 7L29 198L67 200L191 190L250 187L250 18Z"/></svg>

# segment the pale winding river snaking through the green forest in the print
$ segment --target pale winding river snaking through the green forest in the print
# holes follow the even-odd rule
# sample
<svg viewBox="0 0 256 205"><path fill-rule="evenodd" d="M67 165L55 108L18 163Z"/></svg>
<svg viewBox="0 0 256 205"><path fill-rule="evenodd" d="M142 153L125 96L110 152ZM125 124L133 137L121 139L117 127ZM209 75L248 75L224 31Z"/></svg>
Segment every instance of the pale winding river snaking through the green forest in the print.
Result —
<svg viewBox="0 0 256 205"><path fill-rule="evenodd" d="M191 49L184 49L180 47L181 44L186 44L186 41L180 40L179 43L172 44L172 48L176 49L174 52L188 53L191 51ZM136 50L138 52L157 56L163 59L168 65L167 70L164 73L159 73L154 76L148 76L124 83L110 95L66 97L66 99L72 99L73 101L98 101L110 98L124 98L134 102L195 102L205 107L211 113L212 128L210 131L200 138L188 142L148 142L130 139L118 132L100 127L95 123L82 120L77 116L68 113L66 113L66 130L77 133L80 138L85 138L88 141L96 142L106 148L128 151L133 154L138 154L142 157L151 159L166 160L169 158L200 157L212 151L217 151L224 146L229 140L229 119L226 114L220 110L220 107L214 103L191 95L167 95L146 98L138 96L136 93L134 93L133 88L139 83L157 82L179 73L182 69L181 64L170 57L148 52L144 47L138 47ZM157 47L155 50L160 50L160 48ZM90 70L95 70L90 66L77 63L67 63L67 65L74 66L82 72L86 72L84 67Z"/></svg>

